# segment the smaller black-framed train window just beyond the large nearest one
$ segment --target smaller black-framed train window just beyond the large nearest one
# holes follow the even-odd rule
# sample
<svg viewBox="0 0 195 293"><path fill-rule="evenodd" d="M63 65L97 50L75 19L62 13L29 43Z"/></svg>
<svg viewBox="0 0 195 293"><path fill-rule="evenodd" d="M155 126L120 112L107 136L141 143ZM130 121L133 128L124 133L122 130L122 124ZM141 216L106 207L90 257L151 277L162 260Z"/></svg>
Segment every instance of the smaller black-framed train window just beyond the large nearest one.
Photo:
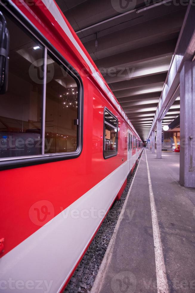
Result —
<svg viewBox="0 0 195 293"><path fill-rule="evenodd" d="M118 120L107 109L104 111L104 158L117 155L118 148Z"/></svg>

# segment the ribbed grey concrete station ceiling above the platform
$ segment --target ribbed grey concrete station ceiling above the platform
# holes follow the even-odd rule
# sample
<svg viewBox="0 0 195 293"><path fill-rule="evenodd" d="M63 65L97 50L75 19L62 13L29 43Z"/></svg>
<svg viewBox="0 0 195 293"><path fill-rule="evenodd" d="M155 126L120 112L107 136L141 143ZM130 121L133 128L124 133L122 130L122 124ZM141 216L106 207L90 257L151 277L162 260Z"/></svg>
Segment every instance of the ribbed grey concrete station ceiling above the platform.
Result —
<svg viewBox="0 0 195 293"><path fill-rule="evenodd" d="M120 2L127 7L121 8ZM151 7L140 10L146 7L146 0L57 0L143 141L186 11L179 1L159 6L147 3ZM179 109L178 98L164 123L174 120Z"/></svg>

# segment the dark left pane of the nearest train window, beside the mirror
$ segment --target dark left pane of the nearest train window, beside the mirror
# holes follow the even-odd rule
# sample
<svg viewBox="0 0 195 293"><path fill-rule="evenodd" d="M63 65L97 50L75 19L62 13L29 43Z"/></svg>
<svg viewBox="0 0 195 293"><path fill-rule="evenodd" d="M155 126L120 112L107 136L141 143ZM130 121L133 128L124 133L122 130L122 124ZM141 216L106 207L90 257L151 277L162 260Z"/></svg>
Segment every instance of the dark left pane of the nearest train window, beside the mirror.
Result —
<svg viewBox="0 0 195 293"><path fill-rule="evenodd" d="M44 48L7 13L4 17L10 50L8 89L0 98L0 158L40 155L33 142L40 146Z"/></svg>

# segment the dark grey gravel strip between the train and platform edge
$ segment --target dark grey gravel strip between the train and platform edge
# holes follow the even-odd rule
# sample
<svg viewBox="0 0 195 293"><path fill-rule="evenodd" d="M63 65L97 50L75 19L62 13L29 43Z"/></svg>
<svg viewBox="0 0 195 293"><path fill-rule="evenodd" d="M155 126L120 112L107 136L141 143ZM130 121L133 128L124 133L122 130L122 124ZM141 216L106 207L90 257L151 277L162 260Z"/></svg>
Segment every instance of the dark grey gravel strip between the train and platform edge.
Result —
<svg viewBox="0 0 195 293"><path fill-rule="evenodd" d="M66 286L64 293L89 293L91 291L136 169L137 166L129 178L120 200L115 201L109 210L92 243Z"/></svg>

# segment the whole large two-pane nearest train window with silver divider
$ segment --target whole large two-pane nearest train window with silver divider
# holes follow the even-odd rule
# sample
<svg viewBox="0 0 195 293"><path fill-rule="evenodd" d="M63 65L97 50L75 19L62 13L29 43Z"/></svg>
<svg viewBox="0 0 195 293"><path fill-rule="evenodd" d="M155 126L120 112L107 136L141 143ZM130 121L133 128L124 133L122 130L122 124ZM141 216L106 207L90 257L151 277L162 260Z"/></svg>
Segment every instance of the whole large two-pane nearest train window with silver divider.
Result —
<svg viewBox="0 0 195 293"><path fill-rule="evenodd" d="M10 162L12 167L16 158L28 164L53 160L54 155L59 159L78 156L82 133L79 78L7 11L3 15L10 49L8 89L0 98L1 166ZM114 121L110 123L115 128Z"/></svg>

